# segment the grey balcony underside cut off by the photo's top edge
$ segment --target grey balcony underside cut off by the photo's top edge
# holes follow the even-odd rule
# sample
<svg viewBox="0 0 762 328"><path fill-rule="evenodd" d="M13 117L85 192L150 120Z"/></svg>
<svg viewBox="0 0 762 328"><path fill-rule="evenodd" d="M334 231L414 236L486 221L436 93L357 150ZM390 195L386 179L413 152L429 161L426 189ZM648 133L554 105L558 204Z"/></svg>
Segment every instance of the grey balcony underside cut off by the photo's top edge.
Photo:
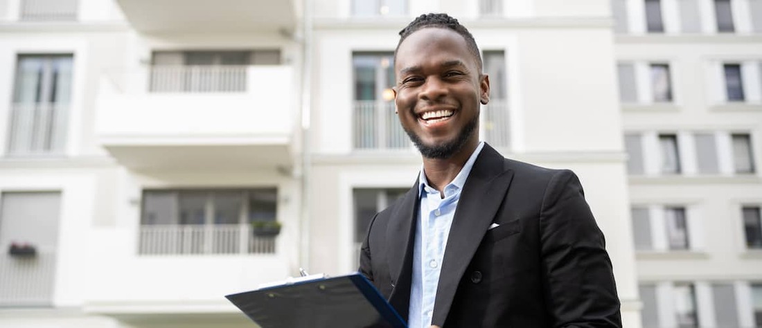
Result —
<svg viewBox="0 0 762 328"><path fill-rule="evenodd" d="M117 0L141 32L246 32L293 30L295 0Z"/></svg>

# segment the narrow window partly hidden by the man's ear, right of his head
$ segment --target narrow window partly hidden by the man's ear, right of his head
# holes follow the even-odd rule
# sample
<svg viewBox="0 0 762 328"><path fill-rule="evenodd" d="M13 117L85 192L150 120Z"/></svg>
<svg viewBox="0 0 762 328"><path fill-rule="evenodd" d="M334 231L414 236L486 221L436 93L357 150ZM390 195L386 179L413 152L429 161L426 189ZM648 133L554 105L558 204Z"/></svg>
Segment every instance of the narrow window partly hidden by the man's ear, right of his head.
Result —
<svg viewBox="0 0 762 328"><path fill-rule="evenodd" d="M509 133L510 116L508 112L507 76L505 52L489 50L482 54L484 72L489 75L489 103L482 110L482 131L485 142L500 148L511 146Z"/></svg>

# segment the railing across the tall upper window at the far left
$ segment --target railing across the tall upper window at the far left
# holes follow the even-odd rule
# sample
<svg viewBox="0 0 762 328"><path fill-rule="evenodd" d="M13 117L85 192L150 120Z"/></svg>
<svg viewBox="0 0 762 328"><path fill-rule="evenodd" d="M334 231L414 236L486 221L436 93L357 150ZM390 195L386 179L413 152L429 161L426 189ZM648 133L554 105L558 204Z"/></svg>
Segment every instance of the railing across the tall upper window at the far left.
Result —
<svg viewBox="0 0 762 328"><path fill-rule="evenodd" d="M8 155L62 154L69 104L14 103L8 124Z"/></svg>

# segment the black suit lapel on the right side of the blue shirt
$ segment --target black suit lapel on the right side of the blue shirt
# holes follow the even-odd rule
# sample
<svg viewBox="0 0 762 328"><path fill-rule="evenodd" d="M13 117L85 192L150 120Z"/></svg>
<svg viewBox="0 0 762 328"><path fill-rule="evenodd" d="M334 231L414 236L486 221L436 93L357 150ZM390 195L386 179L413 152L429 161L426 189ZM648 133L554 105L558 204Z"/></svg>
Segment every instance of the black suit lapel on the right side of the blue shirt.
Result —
<svg viewBox="0 0 762 328"><path fill-rule="evenodd" d="M432 324L442 326L447 319L460 279L495 218L512 178L513 171L504 167L503 156L485 145L463 186L450 227Z"/></svg>

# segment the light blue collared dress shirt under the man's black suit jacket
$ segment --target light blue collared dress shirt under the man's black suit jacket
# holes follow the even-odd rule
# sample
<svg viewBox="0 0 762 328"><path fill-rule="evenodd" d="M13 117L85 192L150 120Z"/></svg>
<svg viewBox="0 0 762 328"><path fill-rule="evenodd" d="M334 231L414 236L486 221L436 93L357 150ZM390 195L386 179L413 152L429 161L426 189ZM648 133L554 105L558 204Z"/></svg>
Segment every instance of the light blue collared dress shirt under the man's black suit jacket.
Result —
<svg viewBox="0 0 762 328"><path fill-rule="evenodd" d="M418 177L418 194L421 195L421 207L415 228L415 246L413 248L413 276L410 288L410 307L408 308L409 328L428 328L434 313L434 299L437 296L439 272L453 223L455 209L460 199L460 191L471 173L476 157L484 148L479 142L463 169L444 187L444 198L439 190L432 188L426 180L421 167Z"/></svg>

